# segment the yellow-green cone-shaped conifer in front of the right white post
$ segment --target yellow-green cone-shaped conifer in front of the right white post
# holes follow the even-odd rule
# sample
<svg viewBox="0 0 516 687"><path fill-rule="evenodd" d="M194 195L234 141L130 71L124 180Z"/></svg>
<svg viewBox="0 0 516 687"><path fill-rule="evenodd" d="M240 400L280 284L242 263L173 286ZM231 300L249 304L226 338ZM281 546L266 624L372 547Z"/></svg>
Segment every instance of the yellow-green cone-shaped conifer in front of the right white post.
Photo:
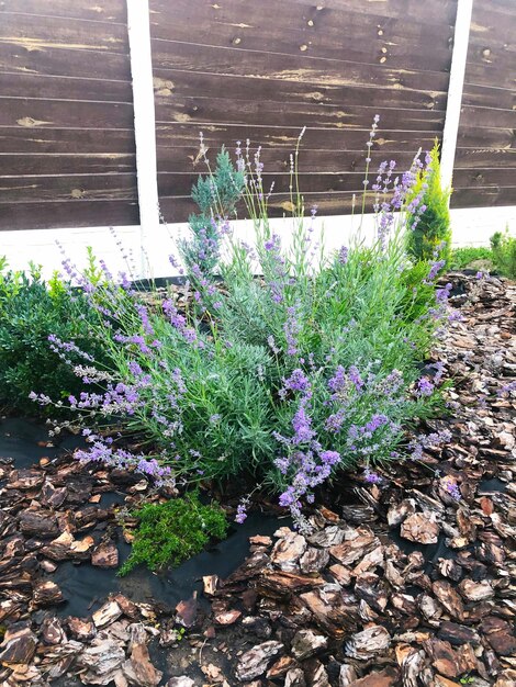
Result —
<svg viewBox="0 0 516 687"><path fill-rule="evenodd" d="M428 156L427 167L418 173L407 204L411 229L407 232L408 252L416 260L431 260L436 254L446 261L449 260L450 193L449 189L441 185L439 145L436 142ZM414 199L417 199L417 202L413 209Z"/></svg>

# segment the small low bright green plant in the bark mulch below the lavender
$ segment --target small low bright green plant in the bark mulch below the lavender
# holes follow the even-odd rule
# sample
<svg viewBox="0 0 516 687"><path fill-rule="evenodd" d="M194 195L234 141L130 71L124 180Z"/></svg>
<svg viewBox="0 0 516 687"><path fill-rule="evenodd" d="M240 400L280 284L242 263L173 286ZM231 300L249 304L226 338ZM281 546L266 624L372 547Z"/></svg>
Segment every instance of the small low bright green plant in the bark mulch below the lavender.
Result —
<svg viewBox="0 0 516 687"><path fill-rule="evenodd" d="M179 565L200 553L211 539L224 539L228 529L224 510L214 504L201 504L198 492L164 504L146 504L131 516L139 523L120 575L141 563L153 572Z"/></svg>

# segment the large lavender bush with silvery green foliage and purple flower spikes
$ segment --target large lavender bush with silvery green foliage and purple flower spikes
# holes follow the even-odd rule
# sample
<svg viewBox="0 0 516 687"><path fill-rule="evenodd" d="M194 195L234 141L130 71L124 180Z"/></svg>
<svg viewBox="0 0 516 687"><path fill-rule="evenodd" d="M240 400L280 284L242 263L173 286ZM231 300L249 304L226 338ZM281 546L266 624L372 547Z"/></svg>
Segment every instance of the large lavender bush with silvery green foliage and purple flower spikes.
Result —
<svg viewBox="0 0 516 687"><path fill-rule="evenodd" d="M375 129L377 122L368 150ZM438 261L423 273L425 290L436 294L425 307L417 285L407 297L403 280L412 269L404 211L423 212L413 193L422 164L416 158L402 174L393 161L382 165L368 192L369 161L368 155L362 207L371 194L377 237L370 245L358 236L324 258L314 239L315 210L304 217L296 150L293 230L283 246L269 221L259 150L251 156L238 146L235 174L255 227L253 247L227 235L226 218L214 210L207 247L194 227L181 246L191 305L180 307L171 293L150 306L110 279L88 289L94 335L110 341L111 365L85 364L83 381L102 380L106 391L70 397L70 405L90 415L92 427L116 418L147 442L148 454L132 455L88 428L91 448L81 458L176 481L237 477L243 492L253 480L279 494L302 523L303 504L338 469L361 464L373 482L375 463L418 458L446 439L406 439L406 428L439 403L442 370L431 380L418 369L447 317L449 291L434 289ZM216 263L206 267L206 251ZM237 519L245 519L244 505Z"/></svg>

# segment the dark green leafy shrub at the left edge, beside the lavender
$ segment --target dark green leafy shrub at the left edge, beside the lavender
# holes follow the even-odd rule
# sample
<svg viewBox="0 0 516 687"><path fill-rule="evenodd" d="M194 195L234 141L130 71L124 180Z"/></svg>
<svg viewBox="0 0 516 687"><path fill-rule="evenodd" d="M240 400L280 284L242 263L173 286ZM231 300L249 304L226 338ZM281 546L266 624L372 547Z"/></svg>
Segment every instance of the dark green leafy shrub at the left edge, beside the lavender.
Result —
<svg viewBox="0 0 516 687"><path fill-rule="evenodd" d="M85 384L71 362L85 363L71 346L59 358L48 337L75 342L81 351L102 362L98 340L90 336L90 309L81 292L71 293L54 277L49 283L34 264L29 273L0 266L0 403L10 409L34 414L33 390L54 401L65 401ZM68 408L68 404L66 404ZM40 407L45 413L45 407ZM47 408L46 408L47 409ZM55 413L55 408L53 410Z"/></svg>

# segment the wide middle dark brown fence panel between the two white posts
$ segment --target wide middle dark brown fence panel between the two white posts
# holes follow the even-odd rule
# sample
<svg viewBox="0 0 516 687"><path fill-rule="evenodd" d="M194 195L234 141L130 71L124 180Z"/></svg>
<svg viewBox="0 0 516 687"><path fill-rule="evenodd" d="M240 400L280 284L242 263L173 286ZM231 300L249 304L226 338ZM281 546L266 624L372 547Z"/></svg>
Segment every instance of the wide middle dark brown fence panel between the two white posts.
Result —
<svg viewBox="0 0 516 687"><path fill-rule="evenodd" d="M150 0L150 10L158 185L169 222L192 210L200 131L210 155L246 138L263 146L266 171L279 174L276 214L288 210L284 172L303 126L305 201L328 214L349 212L363 188L374 114L374 164L392 157L407 166L441 135L456 0Z"/></svg>

